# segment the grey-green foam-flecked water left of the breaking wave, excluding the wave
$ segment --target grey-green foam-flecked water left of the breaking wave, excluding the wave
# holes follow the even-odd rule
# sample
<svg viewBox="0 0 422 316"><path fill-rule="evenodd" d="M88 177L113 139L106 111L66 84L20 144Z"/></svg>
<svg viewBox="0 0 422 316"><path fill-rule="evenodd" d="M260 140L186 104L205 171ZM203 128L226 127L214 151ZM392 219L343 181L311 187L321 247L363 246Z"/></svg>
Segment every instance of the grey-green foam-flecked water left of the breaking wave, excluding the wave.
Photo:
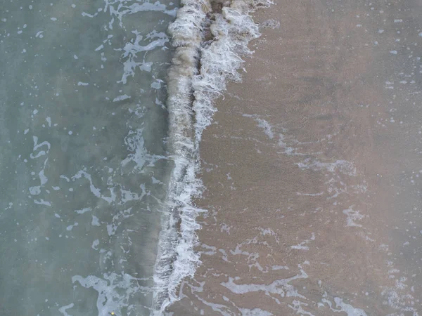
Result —
<svg viewBox="0 0 422 316"><path fill-rule="evenodd" d="M170 1L0 11L0 311L149 315Z"/></svg>

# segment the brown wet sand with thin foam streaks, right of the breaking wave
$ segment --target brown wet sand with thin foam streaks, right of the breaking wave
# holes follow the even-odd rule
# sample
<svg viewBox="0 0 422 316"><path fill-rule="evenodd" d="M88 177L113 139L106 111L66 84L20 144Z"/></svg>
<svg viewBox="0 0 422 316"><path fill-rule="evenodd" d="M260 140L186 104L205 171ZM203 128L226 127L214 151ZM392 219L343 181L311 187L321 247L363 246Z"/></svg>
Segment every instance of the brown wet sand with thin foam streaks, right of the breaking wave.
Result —
<svg viewBox="0 0 422 316"><path fill-rule="evenodd" d="M201 143L173 315L422 312L422 2L278 1ZM279 23L279 25L278 25Z"/></svg>

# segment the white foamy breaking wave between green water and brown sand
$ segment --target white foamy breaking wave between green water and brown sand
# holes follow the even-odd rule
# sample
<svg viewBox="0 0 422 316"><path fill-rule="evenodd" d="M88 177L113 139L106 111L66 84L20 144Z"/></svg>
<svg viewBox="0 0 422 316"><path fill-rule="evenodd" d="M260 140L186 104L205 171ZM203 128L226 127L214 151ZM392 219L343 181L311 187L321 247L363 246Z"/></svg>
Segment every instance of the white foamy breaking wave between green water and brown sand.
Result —
<svg viewBox="0 0 422 316"><path fill-rule="evenodd" d="M216 111L214 100L226 89L227 80L241 81L242 57L252 53L248 43L260 37L250 13L269 4L269 0L182 0L177 19L169 27L175 48L167 82L174 169L168 209L162 216L151 315L162 315L179 300L181 280L193 277L200 264L194 250L200 228L196 217L204 210L193 204L202 192L196 176L200 139Z"/></svg>

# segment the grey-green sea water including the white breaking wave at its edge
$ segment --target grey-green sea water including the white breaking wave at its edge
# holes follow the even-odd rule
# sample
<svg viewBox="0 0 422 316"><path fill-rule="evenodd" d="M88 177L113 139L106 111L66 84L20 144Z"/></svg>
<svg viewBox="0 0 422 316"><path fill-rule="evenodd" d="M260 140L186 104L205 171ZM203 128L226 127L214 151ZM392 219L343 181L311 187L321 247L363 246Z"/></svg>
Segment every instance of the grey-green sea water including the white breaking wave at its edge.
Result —
<svg viewBox="0 0 422 316"><path fill-rule="evenodd" d="M268 4L2 4L1 312L161 315L179 299L200 263L201 134Z"/></svg>

